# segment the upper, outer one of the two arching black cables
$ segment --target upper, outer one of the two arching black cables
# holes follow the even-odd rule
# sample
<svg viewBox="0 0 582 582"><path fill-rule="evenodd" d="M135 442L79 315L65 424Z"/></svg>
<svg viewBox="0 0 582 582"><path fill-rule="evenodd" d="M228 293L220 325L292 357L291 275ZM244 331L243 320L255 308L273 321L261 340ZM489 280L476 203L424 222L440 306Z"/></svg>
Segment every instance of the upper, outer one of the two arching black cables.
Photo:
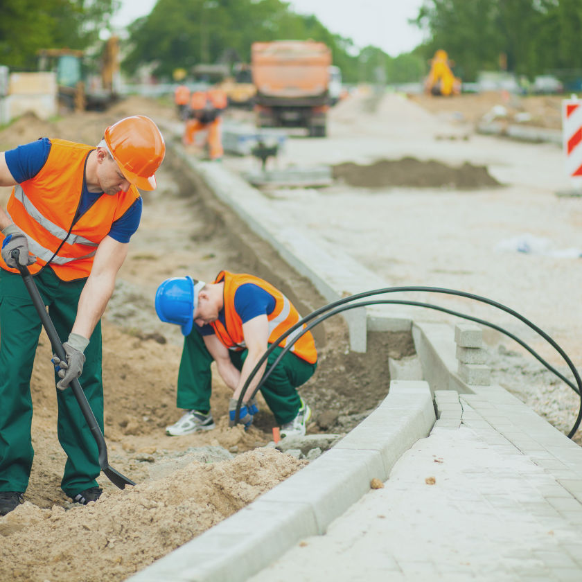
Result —
<svg viewBox="0 0 582 582"><path fill-rule="evenodd" d="M254 369L252 369L251 373L249 374L249 377L245 381L245 385L243 385L243 389L240 392L240 396L238 397L238 401L237 401L237 405L236 405L235 422L238 421L239 412L240 412L240 406L243 403L243 397L245 396L245 393L246 393L246 391L247 391L247 389L249 387L250 382L252 381L252 379L254 378L254 376L256 375L256 373L258 372L258 370L263 365L263 362L265 362L265 360L272 353L272 351L274 351L274 349L276 349L276 347L278 347L279 344L283 340L285 340L285 337L288 337L288 335L290 335L291 333L293 333L299 327L303 326L303 324L306 324L307 321L310 321L310 320L314 319L315 317L317 317L321 313L324 313L324 312L326 312L328 310L331 310L333 308L336 308L338 306L342 306L345 303L351 303L352 301L355 301L357 299L364 299L365 297L370 297L371 295L379 295L379 294L394 293L394 292L408 292L408 291L441 293L441 294L457 295L458 297L466 297L468 299L473 299L475 301L480 301L482 303L486 303L488 305L491 305L493 307L496 307L496 308L498 308L498 309L500 309L502 311L505 311L506 313L509 313L509 315L513 315L513 317L516 317L517 319L520 319L520 321L522 321L524 324L526 324L531 329L533 329L534 331L536 331L536 333L538 333L538 335L540 335L541 337L543 337L562 356L563 360L565 360L566 364L568 365L568 367L570 367L570 370L572 371L572 374L574 375L574 378L576 380L576 385L578 386L577 393L578 394L581 394L582 393L582 380L580 379L579 373L576 370L576 367L574 367L574 364L572 363L572 360L570 360L570 358L565 353L565 351L563 351L563 349L560 346L558 346L558 344L552 339L552 337L550 337L549 335L547 335L547 333L545 333L542 329L540 329L538 326L536 326L536 324L533 324L531 321L529 321L529 319L527 319L526 317L524 317L523 315L521 315L517 311L515 311L515 310L513 310L513 309L511 309L511 308L509 308L507 306L504 306L502 303L498 303L497 301L493 301L493 299L487 299L486 297L481 297L480 295L475 295L473 293L467 293L467 292L464 292L464 291L458 291L458 290L446 289L446 288L440 288L440 287L422 287L422 286L387 287L387 288L376 289L376 290L371 290L371 291L365 291L365 292L362 292L362 293L350 295L349 297L344 297L342 299L338 299L337 301L333 301L332 303L328 303L328 305L323 306L323 307L321 307L321 308L319 308L319 309L311 312L306 317L303 317L303 319L300 319L297 322L297 324L294 324L294 326L291 326L287 331L285 331L285 333L281 334L269 346L269 348L265 351L265 353L261 356L261 358L256 363ZM409 304L414 304L414 303L415 302L411 302ZM358 304L358 307L362 306L362 304ZM405 301L403 301L403 304L408 304L408 303L405 302ZM430 305L430 304L423 304L422 306L428 306L428 305ZM437 308L439 310L445 310L445 308L438 308L437 306L432 306L432 308ZM342 310L337 310L337 312L341 312L341 311ZM457 315L455 312L452 312L452 314ZM331 317L331 315L332 314L328 315L327 317ZM461 315L461 314L458 314L458 315L459 315L459 317L465 317L464 315ZM324 319L327 319L327 317L322 317L321 318L321 321L324 321ZM469 318L470 318L470 316L467 317L467 319L469 319ZM321 322L321 321L319 321L319 322ZM489 325L488 322L485 322L484 321L483 323L486 324L486 325ZM317 323L315 323L314 326L315 325L317 325ZM500 329L500 330L502 330L502 329ZM502 331L503 331L503 333L505 333L505 330L502 330ZM293 343L294 342L292 342L292 344ZM524 347L526 347L525 344L522 344L522 345L524 345ZM529 349L529 346L527 346L526 349L528 349L528 351L530 351L530 353L533 353L533 351L531 349ZM535 353L533 353L533 355L535 355ZM540 362L543 362L543 360L541 360L540 358L538 358L538 360L540 360ZM561 375L559 375L559 376L563 379L563 377ZM567 382L567 380L566 380L566 382ZM570 385L571 387L573 387L570 384L570 382L567 382L567 384ZM576 389L574 389L574 390L576 390ZM255 393L256 393L256 391L254 391L254 394ZM570 431L570 434L568 434L568 438L571 439L572 436L576 433L576 430L578 430L578 427L580 425L581 420L582 420L582 395L581 395L581 405L580 405L580 409L579 409L579 414L578 414L578 417L576 418L576 423L574 423L574 427Z"/></svg>

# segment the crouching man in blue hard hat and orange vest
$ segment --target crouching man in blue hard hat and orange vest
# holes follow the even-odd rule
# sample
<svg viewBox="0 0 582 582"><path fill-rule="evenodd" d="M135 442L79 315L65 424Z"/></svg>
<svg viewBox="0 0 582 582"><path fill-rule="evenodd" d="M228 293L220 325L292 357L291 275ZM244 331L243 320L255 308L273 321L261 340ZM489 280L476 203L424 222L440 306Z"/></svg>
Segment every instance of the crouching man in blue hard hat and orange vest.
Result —
<svg viewBox="0 0 582 582"><path fill-rule="evenodd" d="M210 412L213 360L222 380L233 391L229 400L229 421L233 425L238 398L258 360L267 346L301 319L289 299L267 281L228 271L221 271L213 283L189 276L166 279L159 285L155 306L161 321L178 324L185 336L177 386L177 407L185 412L177 423L166 427L166 434L171 436L214 428ZM299 333L301 329L283 340L249 383L239 411L245 428L258 412L256 401L250 397L267 364L271 366ZM307 332L261 386L261 394L281 425L282 437L306 432L311 410L297 394L297 387L311 378L316 367L315 342Z"/></svg>

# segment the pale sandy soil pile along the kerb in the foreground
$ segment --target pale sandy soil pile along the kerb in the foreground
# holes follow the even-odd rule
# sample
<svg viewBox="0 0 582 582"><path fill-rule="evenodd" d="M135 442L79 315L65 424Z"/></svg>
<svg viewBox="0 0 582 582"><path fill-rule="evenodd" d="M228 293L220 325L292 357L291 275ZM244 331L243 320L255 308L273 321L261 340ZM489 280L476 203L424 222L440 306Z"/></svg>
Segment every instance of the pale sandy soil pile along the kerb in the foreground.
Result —
<svg viewBox="0 0 582 582"><path fill-rule="evenodd" d="M261 449L220 463L193 461L169 477L104 493L69 511L27 502L0 518L0 579L125 579L306 464Z"/></svg>

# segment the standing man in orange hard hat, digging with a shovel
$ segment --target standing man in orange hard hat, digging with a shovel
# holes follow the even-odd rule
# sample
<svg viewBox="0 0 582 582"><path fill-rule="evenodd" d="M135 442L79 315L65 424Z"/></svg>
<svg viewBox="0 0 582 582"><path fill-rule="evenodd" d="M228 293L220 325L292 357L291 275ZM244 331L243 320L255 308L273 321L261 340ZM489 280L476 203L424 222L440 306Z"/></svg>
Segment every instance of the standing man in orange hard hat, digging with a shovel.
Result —
<svg viewBox="0 0 582 582"><path fill-rule="evenodd" d="M98 450L67 387L80 379L103 431L100 317L141 218L138 188L155 189L165 152L157 125L139 115L107 127L96 147L42 138L0 152L0 186L14 186L0 209L0 515L23 502L33 464L30 376L42 326L12 251L68 338L67 361L55 360L58 437L68 457L61 487L87 504L101 494Z"/></svg>

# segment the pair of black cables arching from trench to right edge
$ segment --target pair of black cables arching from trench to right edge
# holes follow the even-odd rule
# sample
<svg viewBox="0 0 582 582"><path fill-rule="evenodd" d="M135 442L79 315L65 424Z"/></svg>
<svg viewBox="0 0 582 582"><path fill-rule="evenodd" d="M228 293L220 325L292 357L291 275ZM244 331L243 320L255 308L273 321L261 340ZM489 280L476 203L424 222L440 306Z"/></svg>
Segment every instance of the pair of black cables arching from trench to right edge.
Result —
<svg viewBox="0 0 582 582"><path fill-rule="evenodd" d="M522 321L524 324L526 324L531 329L536 331L536 333L538 333L538 335L543 337L550 345L552 345L552 347L554 347L554 349L556 349L556 351L565 360L567 366L570 367L570 370L572 371L574 379L576 380L576 385L574 385L574 383L572 383L570 380L567 380L567 378L565 378L563 376L563 374L561 374L558 370L556 370L548 362L546 362L543 358L541 358L541 356L538 355L538 353L536 353L535 351L533 351L533 349L531 349L531 347L528 346L525 342L523 342L518 337L516 337L515 335L513 335L509 331L505 330L504 328L497 326L495 324L491 324L491 322L485 321L484 319L479 319L477 317L462 314L462 313L450 310L448 308L434 306L430 303L421 303L418 301L388 300L388 299L381 300L380 299L380 300L373 300L373 301L361 301L359 303L355 303L353 305L346 306L346 303L351 303L351 302L356 301L358 299L364 299L365 297L370 297L371 295L394 293L394 292L409 292L409 291L441 293L441 294L457 295L459 297L466 297L468 299L473 299L475 301L487 303L488 305L491 305L495 308L498 308L502 311L505 311L505 312L509 313L509 315L512 315L513 317L516 317L517 319L520 319L520 321ZM279 356L273 362L270 369L263 375L263 378L261 378L261 382L259 382L258 385L256 386L256 388L254 389L252 396L254 396L256 394L256 392L261 388L261 386L263 385L265 380L270 376L270 373L272 372L272 370L276 367L277 364L279 364L279 362L281 361L281 358L283 358L283 355L285 355L285 353L287 353L291 349L294 342L296 342L299 339L299 337L301 337L301 335L303 335L303 333L307 333L308 330L310 330L310 329L314 328L315 326L317 326L318 324L320 324L321 321L324 321L325 319L328 319L328 317L332 317L333 315L337 315L337 313L340 313L344 310L355 309L355 308L364 307L367 305L374 305L374 304L381 304L381 303L412 305L412 306L425 307L425 308L439 310L442 312L449 313L450 315L455 315L457 317L461 317L463 319L470 319L471 321L476 321L477 323L480 323L480 324L483 324L485 326L496 329L496 330L500 331L501 333L504 333L508 337L511 337L512 340L515 340L515 342L518 342L518 344L520 344L525 349L527 349L527 351L529 351L529 353L531 353L549 371L552 371L552 373L556 374L556 376L558 376L558 378L563 380L563 382L565 382L568 386L570 386L576 392L576 394L578 394L581 397L578 416L576 417L576 421L572 427L572 430L570 430L570 432L567 436L569 439L572 439L572 436L574 436L574 434L576 434L576 431L578 430L578 427L582 421L582 380L579 376L578 371L576 370L576 367L574 367L572 360L570 360L570 358L565 353L565 351L563 351L563 349L560 346L558 346L558 344L552 339L552 337L547 335L547 333L545 333L542 329L540 329L538 326L536 326L536 324L533 324L531 321L529 321L529 319L527 319L526 317L524 317L523 315L521 315L517 311L515 311L509 307L504 306L502 303L498 303L497 301L493 301L493 299L487 299L486 297L481 297L479 295L475 295L473 293L467 293L464 291L439 288L439 287L416 287L416 286L413 286L413 287L388 287L388 288L376 289L376 290L371 290L371 291L366 291L366 292L354 294L354 295L351 295L349 297L344 297L343 299L338 299L337 301L334 301L333 303L328 303L328 305L311 312L306 317L303 317L303 319L298 321L297 324L294 324L294 326L292 326L287 331L285 331L285 333L281 334L269 346L269 348L265 351L263 356L261 356L261 359L258 360L258 362L256 363L256 366L254 367L254 369L252 369L251 373L249 374L249 377L245 381L245 385L243 386L243 389L240 393L240 396L238 397L238 402L236 405L236 413L235 413L236 421L238 421L240 406L243 403L243 397L245 396L245 393L247 391L247 388L249 387L250 382L252 382L252 379L254 378L254 376L256 375L258 370L263 365L263 362L265 362L265 360L268 358L270 353L272 353L272 351L277 346L279 346L279 344L283 340L285 340L285 337L288 337L288 335L293 333L299 327L303 326L303 324L306 324L308 321L311 321L312 319L315 319L317 317L317 319L315 319L315 321L312 321L312 323L309 324L309 326L306 326L306 328L303 329L299 335L294 337L292 342L290 342L287 346L285 346L285 348L281 351ZM321 317L318 317L320 314L324 314L324 315L321 315Z"/></svg>

